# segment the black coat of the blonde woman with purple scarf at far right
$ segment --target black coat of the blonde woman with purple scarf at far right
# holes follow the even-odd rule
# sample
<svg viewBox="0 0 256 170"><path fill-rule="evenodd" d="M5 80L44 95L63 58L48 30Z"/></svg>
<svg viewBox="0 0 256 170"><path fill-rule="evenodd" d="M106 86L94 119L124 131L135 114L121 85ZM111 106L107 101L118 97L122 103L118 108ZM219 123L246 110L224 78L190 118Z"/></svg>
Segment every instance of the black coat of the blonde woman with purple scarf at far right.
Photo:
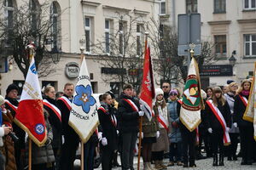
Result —
<svg viewBox="0 0 256 170"><path fill-rule="evenodd" d="M245 97L248 99L248 96L245 96ZM235 103L234 103L234 116L233 116L234 122L237 123L238 127L253 127L253 122L247 122L243 120L242 117L245 111L246 111L246 106L241 101L241 98L239 97L239 95L236 95Z"/></svg>

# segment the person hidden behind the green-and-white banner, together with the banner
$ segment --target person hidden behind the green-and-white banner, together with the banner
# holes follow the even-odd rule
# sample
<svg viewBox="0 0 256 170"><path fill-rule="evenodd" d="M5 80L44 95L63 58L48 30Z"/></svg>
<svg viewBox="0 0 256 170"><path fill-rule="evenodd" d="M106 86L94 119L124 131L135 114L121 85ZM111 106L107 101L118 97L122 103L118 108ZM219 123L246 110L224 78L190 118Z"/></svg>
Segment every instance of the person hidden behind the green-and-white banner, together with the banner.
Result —
<svg viewBox="0 0 256 170"><path fill-rule="evenodd" d="M180 119L180 130L183 139L183 167L196 167L195 165L195 141L198 125L201 123L201 108L204 108L201 98L201 84L198 65L193 57L194 50L190 50L192 56L187 82L183 90L181 105L177 105L177 114ZM188 165L189 161L189 165Z"/></svg>

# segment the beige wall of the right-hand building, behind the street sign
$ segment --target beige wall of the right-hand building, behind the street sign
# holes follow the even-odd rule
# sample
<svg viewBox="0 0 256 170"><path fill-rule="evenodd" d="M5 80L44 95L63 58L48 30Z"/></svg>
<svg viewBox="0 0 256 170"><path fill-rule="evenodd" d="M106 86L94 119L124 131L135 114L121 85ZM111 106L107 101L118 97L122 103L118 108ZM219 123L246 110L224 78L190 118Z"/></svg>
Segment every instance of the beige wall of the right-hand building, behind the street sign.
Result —
<svg viewBox="0 0 256 170"><path fill-rule="evenodd" d="M166 0L167 3L175 2L175 17L177 14L186 13L185 0ZM243 34L256 34L256 10L244 11L243 0L226 0L226 13L213 14L213 0L197 0L198 13L201 14L201 41L213 42L214 35L226 35L227 59L221 59L216 64L229 64L229 58L236 50L236 65L233 77L210 77L210 83L224 85L224 79L234 79L240 82L247 77L248 71L253 71L253 62L256 58L244 58ZM166 8L170 8L166 6ZM171 13L172 14L172 13ZM172 18L172 16L171 16ZM226 23L218 21L226 21ZM169 26L173 26L170 20ZM210 22L210 23L209 23ZM211 24L213 22L213 24ZM221 80L221 81L218 81Z"/></svg>

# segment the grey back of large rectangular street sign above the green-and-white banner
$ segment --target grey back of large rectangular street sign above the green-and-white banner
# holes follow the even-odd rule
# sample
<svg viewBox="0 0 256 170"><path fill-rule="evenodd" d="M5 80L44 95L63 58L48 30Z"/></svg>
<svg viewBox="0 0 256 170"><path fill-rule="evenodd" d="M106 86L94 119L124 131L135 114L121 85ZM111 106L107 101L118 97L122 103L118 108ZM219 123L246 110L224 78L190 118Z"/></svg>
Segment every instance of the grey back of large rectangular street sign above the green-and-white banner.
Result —
<svg viewBox="0 0 256 170"><path fill-rule="evenodd" d="M189 55L189 43L195 55L201 54L201 14L178 14L178 55Z"/></svg>

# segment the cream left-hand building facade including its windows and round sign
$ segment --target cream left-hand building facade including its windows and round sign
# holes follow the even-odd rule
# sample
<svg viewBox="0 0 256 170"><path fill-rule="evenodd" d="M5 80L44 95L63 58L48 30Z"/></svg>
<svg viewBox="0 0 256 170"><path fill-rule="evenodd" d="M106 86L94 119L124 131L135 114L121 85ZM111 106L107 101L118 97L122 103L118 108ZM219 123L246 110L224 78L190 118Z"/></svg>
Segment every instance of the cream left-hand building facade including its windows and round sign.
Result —
<svg viewBox="0 0 256 170"><path fill-rule="evenodd" d="M43 0L27 0L36 8L45 3ZM2 16L9 20L14 8L20 8L22 2L18 0L3 1ZM30 7L30 8L32 8ZM119 83L106 82L102 77L108 77L106 71L102 71L102 65L97 61L97 50L94 44L103 42L102 52L111 55L109 39L115 32L119 32L119 49L122 49L122 34L129 30L128 23L135 22L131 29L132 34L137 37L137 42L144 40L144 23L150 19L159 20L159 3L154 0L56 0L49 1L49 14L51 14L52 37L49 44L51 50L61 51L59 59L53 63L55 73L47 77L40 77L42 87L51 84L56 91L62 91L66 82L77 82L79 65L81 62L80 40L84 39L84 54L87 62L90 80L94 93L104 93L110 89L119 93ZM121 21L121 22L120 22ZM104 41L102 41L102 39ZM24 77L15 65L11 56L1 56L7 59L3 65L8 65L8 71L1 73L1 91L5 95L5 89L10 83L15 82L21 93Z"/></svg>

